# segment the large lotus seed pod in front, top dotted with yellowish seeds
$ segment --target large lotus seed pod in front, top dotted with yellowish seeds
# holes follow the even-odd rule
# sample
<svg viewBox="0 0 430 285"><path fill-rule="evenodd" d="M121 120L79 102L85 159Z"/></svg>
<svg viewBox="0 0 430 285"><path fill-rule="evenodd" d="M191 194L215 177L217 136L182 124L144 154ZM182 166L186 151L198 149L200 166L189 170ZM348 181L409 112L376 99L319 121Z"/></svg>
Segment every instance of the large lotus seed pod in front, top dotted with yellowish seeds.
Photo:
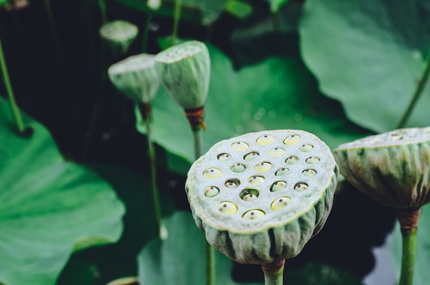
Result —
<svg viewBox="0 0 430 285"><path fill-rule="evenodd" d="M185 191L207 241L232 260L295 257L330 213L338 169L330 149L299 130L260 131L214 145Z"/></svg>

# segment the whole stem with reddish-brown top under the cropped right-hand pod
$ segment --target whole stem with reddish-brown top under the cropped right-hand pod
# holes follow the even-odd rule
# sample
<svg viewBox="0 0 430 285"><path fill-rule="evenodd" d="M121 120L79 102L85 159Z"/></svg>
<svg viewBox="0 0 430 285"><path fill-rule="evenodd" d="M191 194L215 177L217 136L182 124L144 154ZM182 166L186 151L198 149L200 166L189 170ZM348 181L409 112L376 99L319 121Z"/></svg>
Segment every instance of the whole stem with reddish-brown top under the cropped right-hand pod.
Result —
<svg viewBox="0 0 430 285"><path fill-rule="evenodd" d="M402 266L399 285L414 284L416 231L419 217L420 209L397 211L397 220L402 232Z"/></svg>

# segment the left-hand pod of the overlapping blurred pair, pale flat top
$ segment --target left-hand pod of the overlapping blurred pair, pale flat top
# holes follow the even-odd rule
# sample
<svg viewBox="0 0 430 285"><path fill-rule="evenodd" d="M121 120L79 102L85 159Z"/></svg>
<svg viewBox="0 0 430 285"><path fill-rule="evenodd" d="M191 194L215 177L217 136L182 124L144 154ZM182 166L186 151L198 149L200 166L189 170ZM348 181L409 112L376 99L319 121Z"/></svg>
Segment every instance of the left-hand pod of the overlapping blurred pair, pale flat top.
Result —
<svg viewBox="0 0 430 285"><path fill-rule="evenodd" d="M109 67L109 78L131 100L150 103L160 85L154 58L152 54L130 56Z"/></svg>

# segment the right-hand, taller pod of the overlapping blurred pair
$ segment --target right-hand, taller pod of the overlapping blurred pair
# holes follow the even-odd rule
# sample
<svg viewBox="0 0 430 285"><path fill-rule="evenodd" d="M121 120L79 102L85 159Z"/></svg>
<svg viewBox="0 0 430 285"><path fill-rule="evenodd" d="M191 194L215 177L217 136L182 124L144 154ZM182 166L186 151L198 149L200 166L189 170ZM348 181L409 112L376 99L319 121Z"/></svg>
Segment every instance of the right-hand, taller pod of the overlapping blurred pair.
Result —
<svg viewBox="0 0 430 285"><path fill-rule="evenodd" d="M155 68L170 96L184 109L205 103L210 82L210 56L204 43L186 41L155 56Z"/></svg>

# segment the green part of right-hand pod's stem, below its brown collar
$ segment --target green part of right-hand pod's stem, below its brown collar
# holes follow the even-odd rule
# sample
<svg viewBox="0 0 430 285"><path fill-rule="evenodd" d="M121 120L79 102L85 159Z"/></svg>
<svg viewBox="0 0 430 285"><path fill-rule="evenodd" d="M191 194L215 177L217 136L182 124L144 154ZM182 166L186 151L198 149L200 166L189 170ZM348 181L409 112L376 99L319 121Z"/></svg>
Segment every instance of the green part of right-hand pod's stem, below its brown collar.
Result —
<svg viewBox="0 0 430 285"><path fill-rule="evenodd" d="M401 229L402 231L402 267L399 285L412 285L414 283L414 267L416 257L416 231L417 228Z"/></svg>

